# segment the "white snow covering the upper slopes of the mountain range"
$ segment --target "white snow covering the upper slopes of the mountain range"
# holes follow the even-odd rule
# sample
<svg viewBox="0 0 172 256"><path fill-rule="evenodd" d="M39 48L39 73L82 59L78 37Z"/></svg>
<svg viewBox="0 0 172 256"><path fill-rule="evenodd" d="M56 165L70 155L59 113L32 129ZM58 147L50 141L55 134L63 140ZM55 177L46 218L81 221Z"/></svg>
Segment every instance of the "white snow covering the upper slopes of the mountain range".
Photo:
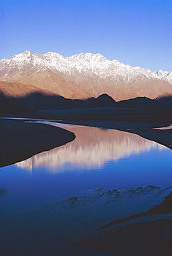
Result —
<svg viewBox="0 0 172 256"><path fill-rule="evenodd" d="M151 72L147 68L133 67L122 64L118 60L107 60L100 53L78 53L71 57L63 57L54 52L48 52L43 55L34 54L30 51L25 51L11 58L1 60L3 65L17 68L19 72L23 73L28 69L38 66L40 68L49 68L50 70L60 72L62 75L75 76L79 73L87 73L88 75L98 75L100 78L113 80L117 77L126 83L132 82L139 77L156 78L166 80L172 83L172 72L162 71Z"/></svg>

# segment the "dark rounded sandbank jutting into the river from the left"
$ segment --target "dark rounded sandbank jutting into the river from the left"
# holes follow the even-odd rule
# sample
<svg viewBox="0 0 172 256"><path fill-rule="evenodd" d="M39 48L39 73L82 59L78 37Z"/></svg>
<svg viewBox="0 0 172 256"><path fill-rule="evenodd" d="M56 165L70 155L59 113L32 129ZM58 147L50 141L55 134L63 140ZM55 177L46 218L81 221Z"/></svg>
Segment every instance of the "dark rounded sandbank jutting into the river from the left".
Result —
<svg viewBox="0 0 172 256"><path fill-rule="evenodd" d="M74 138L72 132L59 127L0 119L0 167L64 145Z"/></svg>

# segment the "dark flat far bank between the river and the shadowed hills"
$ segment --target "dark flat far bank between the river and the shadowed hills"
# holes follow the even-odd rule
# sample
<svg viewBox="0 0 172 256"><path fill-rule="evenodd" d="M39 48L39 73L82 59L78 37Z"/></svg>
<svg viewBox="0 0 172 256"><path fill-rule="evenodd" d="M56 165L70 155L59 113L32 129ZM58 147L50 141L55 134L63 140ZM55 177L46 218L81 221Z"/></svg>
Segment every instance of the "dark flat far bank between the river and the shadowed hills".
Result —
<svg viewBox="0 0 172 256"><path fill-rule="evenodd" d="M19 113L13 117L54 120L55 122L71 123L118 129L138 134L148 140L153 140L172 149L172 129L154 129L172 124L171 109L118 109L90 108L50 110L36 113ZM12 116L12 115L5 115Z"/></svg>

